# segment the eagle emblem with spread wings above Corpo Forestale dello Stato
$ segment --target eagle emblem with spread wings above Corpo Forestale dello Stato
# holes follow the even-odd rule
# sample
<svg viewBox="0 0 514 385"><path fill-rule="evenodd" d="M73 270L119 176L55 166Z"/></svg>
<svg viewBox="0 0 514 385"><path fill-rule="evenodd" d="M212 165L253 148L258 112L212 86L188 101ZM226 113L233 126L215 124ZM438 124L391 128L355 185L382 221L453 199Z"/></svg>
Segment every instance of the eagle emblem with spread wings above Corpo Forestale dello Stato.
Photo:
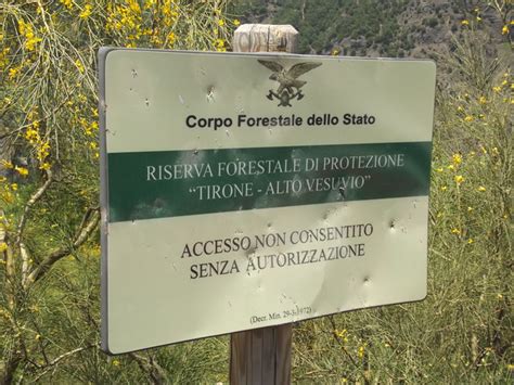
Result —
<svg viewBox="0 0 514 385"><path fill-rule="evenodd" d="M300 88L304 87L307 81L298 80L298 77L308 73L316 67L319 67L322 63L298 63L293 65L291 68L285 69L281 64L277 62L271 62L267 60L258 60L268 69L271 69L273 74L270 75L271 80L279 82L279 88L277 91L269 90L269 93L266 95L269 100L277 99L279 100L279 106L288 106L291 107L292 100L304 99L304 93Z"/></svg>

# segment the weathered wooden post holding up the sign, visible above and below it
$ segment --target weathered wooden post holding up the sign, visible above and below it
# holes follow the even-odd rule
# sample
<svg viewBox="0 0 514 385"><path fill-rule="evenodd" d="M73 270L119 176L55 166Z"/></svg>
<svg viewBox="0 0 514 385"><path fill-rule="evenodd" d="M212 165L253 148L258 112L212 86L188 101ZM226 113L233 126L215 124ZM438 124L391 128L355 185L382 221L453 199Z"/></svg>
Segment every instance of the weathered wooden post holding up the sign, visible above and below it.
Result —
<svg viewBox="0 0 514 385"><path fill-rule="evenodd" d="M298 31L291 25L244 24L234 33L234 52L296 52ZM291 323L233 333L232 385L291 383Z"/></svg>

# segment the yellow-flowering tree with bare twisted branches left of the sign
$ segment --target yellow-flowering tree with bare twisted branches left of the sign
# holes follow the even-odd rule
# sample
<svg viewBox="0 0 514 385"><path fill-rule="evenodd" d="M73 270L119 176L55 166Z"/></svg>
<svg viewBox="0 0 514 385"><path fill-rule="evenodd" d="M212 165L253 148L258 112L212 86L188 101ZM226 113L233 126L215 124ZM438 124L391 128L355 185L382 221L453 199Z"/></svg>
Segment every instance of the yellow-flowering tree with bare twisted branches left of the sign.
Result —
<svg viewBox="0 0 514 385"><path fill-rule="evenodd" d="M239 24L226 7L224 0L0 4L1 383L52 373L114 381L95 362L106 362L97 342L97 52L101 46L224 51ZM55 372L75 356L83 362L74 374ZM162 375L152 359L131 359L151 378Z"/></svg>

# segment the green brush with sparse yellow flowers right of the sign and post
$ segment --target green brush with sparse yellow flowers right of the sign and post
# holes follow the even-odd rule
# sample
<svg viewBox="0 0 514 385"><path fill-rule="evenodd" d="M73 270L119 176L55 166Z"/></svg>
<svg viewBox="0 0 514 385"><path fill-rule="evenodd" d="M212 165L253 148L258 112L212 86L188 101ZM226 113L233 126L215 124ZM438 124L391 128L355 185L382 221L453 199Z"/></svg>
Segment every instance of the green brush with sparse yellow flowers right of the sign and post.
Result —
<svg viewBox="0 0 514 385"><path fill-rule="evenodd" d="M467 30L439 63L460 70L437 92L427 298L301 323L298 382L512 378L513 79L484 39Z"/></svg>

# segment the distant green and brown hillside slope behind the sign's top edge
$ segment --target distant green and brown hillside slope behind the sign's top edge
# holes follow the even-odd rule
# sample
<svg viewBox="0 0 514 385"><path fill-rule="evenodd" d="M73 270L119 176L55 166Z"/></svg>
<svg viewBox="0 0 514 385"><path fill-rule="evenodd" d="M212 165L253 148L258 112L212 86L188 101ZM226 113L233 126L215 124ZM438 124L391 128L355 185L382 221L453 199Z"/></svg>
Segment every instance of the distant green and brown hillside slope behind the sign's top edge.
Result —
<svg viewBox="0 0 514 385"><path fill-rule="evenodd" d="M499 31L507 22L464 0L237 0L234 12L244 23L292 24L300 53L373 57L433 57L466 28ZM497 36L491 49L506 41L487 35Z"/></svg>

